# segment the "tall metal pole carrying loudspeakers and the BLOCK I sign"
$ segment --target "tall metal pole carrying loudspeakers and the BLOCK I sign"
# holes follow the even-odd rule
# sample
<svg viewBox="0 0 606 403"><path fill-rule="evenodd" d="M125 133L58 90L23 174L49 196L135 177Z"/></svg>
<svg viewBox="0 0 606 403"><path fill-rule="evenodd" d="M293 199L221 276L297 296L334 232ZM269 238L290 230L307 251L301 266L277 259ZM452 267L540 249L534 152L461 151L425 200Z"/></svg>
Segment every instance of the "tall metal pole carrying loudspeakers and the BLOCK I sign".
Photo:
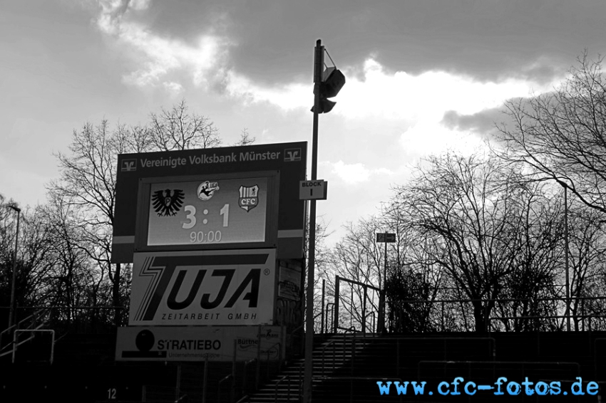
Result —
<svg viewBox="0 0 606 403"><path fill-rule="evenodd" d="M317 179L318 168L318 110L320 104L320 83L324 66L324 46L316 41L314 54L314 127L312 132L312 181ZM312 349L314 347L314 264L316 253L316 200L309 201L309 264L307 267L307 318L305 326L305 373L303 402L312 401Z"/></svg>

